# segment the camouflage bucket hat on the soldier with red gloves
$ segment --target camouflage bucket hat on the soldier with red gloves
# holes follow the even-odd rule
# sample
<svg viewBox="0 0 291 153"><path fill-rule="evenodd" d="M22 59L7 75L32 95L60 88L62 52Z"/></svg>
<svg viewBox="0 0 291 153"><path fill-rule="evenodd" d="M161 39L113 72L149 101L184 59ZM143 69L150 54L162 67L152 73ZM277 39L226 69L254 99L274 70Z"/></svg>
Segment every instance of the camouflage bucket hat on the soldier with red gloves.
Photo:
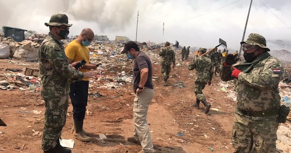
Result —
<svg viewBox="0 0 291 153"><path fill-rule="evenodd" d="M241 42L241 45L244 43L247 43L253 46L257 45L261 48L266 49L267 51L270 51L270 49L267 48L266 39L260 34L254 34L254 33L250 34L246 41Z"/></svg>

